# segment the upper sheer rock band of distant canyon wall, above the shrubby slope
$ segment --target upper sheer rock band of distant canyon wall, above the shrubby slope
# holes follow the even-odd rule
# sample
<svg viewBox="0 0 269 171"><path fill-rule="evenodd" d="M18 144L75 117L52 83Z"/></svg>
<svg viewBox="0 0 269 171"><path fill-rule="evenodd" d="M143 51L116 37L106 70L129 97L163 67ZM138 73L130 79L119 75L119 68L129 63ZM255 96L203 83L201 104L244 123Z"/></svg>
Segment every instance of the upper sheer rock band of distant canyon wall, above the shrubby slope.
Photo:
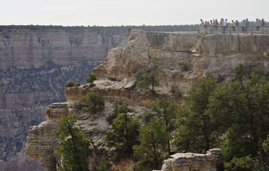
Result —
<svg viewBox="0 0 269 171"><path fill-rule="evenodd" d="M3 30L0 67L40 67L79 64L87 58L102 61L108 50L126 43L125 30Z"/></svg>

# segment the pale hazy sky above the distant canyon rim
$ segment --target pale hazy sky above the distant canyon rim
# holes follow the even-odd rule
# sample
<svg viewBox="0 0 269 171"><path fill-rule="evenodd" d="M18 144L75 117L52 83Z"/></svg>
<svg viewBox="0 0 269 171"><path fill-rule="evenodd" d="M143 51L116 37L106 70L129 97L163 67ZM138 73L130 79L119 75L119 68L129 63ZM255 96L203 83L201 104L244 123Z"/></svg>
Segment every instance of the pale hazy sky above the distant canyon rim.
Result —
<svg viewBox="0 0 269 171"><path fill-rule="evenodd" d="M179 25L269 21L269 0L0 0L0 25Z"/></svg>

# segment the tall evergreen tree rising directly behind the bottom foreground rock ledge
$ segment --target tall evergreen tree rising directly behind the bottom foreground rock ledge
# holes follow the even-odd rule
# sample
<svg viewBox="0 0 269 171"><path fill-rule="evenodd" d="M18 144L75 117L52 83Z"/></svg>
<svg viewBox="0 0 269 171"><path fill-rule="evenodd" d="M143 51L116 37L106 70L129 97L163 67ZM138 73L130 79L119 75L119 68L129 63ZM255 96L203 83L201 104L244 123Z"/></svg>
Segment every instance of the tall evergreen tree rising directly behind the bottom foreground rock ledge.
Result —
<svg viewBox="0 0 269 171"><path fill-rule="evenodd" d="M202 78L189 91L189 101L180 107L175 144L185 152L205 152L214 144L214 131L219 127L219 116L208 112L209 97L217 86L211 77ZM190 140L191 141L182 141Z"/></svg>

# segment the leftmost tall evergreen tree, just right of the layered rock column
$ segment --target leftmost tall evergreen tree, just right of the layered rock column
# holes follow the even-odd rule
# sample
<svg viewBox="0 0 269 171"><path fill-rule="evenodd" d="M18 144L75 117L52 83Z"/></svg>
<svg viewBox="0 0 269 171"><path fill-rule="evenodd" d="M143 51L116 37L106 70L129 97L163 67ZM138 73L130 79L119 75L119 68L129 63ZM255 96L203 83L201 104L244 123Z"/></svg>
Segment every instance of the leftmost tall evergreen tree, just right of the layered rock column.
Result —
<svg viewBox="0 0 269 171"><path fill-rule="evenodd" d="M54 154L63 157L60 171L88 171L89 139L75 126L76 117L65 116L58 121L60 125L58 143Z"/></svg>

